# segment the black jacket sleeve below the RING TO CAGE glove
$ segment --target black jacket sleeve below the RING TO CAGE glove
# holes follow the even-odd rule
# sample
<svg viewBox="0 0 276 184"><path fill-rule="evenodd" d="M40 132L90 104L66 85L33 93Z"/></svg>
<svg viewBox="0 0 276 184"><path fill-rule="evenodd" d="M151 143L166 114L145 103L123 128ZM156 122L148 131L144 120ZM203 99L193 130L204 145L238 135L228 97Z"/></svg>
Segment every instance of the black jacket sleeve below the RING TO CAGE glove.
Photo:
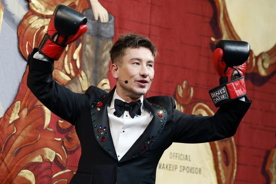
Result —
<svg viewBox="0 0 276 184"><path fill-rule="evenodd" d="M204 143L233 136L241 119L251 105L251 100L239 99L229 101L221 106L214 116L187 115L175 110L173 104L173 142Z"/></svg>

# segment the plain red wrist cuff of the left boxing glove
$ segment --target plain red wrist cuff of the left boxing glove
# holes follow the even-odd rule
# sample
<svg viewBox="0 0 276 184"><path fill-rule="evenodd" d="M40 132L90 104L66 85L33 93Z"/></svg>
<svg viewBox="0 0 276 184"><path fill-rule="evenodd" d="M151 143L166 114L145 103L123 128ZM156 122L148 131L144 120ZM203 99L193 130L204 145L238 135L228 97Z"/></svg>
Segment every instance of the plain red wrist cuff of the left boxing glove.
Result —
<svg viewBox="0 0 276 184"><path fill-rule="evenodd" d="M49 34L45 34L43 40L39 45L39 53L45 55L49 60L59 60L60 56L64 52L66 45L59 44L50 39Z"/></svg>

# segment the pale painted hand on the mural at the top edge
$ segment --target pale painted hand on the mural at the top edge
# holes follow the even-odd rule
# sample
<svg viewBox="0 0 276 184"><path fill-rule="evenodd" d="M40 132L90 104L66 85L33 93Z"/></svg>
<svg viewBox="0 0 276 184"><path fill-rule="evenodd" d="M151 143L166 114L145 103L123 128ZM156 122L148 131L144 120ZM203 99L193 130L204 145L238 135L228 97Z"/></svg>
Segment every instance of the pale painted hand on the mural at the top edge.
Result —
<svg viewBox="0 0 276 184"><path fill-rule="evenodd" d="M90 0L91 7L93 10L94 18L95 20L98 20L100 18L100 21L102 23L108 22L108 12L107 10L99 3L98 0Z"/></svg>

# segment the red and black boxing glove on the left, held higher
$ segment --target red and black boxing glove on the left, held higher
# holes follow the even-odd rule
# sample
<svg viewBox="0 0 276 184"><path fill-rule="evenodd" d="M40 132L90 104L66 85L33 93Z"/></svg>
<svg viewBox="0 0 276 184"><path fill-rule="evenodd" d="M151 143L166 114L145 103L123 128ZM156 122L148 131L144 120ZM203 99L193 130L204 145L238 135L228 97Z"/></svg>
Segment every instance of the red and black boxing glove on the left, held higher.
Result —
<svg viewBox="0 0 276 184"><path fill-rule="evenodd" d="M85 34L86 23L87 18L80 12L65 5L57 5L47 33L39 45L39 53L50 60L59 60L66 45Z"/></svg>

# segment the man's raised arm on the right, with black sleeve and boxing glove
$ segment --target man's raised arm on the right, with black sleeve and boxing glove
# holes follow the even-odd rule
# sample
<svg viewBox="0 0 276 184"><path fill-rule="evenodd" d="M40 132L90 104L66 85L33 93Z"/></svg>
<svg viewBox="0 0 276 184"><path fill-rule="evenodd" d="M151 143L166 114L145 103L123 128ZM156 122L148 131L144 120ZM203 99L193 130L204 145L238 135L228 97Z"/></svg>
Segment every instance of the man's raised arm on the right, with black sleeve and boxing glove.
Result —
<svg viewBox="0 0 276 184"><path fill-rule="evenodd" d="M173 112L174 142L202 143L233 136L251 105L246 97L244 73L250 45L244 41L220 40L213 53L218 87L209 91L214 105L220 107L214 116L196 116ZM245 100L245 101L243 101ZM172 100L174 105L174 101Z"/></svg>

